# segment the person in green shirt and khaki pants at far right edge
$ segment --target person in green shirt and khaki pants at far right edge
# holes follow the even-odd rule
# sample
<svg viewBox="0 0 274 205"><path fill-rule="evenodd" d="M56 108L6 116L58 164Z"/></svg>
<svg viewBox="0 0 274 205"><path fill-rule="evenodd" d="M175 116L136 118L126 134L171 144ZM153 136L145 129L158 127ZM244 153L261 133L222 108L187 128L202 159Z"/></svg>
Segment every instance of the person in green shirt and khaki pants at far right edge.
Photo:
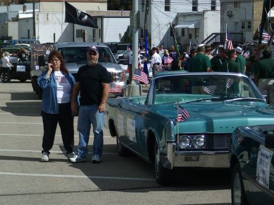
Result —
<svg viewBox="0 0 274 205"><path fill-rule="evenodd" d="M269 50L264 50L263 56L255 70L254 81L261 93L268 96L268 103L274 105L274 59Z"/></svg>

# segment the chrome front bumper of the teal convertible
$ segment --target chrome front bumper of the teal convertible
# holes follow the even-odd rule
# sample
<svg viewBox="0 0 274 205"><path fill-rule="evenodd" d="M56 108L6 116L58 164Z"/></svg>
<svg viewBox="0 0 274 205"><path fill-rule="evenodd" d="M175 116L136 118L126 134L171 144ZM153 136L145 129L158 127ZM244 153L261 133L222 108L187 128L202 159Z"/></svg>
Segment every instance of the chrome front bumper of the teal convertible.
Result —
<svg viewBox="0 0 274 205"><path fill-rule="evenodd" d="M173 167L229 168L228 152L176 152L176 144L167 144L167 156L160 156L166 169Z"/></svg>

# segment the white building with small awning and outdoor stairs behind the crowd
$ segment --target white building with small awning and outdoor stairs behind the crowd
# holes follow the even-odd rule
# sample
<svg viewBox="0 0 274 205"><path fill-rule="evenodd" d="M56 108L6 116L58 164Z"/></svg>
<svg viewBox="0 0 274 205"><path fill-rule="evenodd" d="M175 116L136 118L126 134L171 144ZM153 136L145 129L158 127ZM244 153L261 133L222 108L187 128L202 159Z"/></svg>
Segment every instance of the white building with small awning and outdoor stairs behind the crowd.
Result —
<svg viewBox="0 0 274 205"><path fill-rule="evenodd" d="M139 11L141 16L141 28L143 28L145 16L144 0L139 1ZM219 17L215 16L215 20L220 19L220 14L218 14L220 13L220 0L150 1L147 21L150 45L153 47L158 46L159 44L164 44L165 48L169 48L171 45L174 45L172 32L170 30L170 23L173 23L175 26L179 24L182 25L186 20L199 22L199 24L196 24L194 28L185 28L188 29L186 31L187 33L185 33L185 35L188 35L188 38L189 34L193 34L193 32L195 32L195 27L198 25L199 27L203 26L202 29L196 28L196 31L199 29L199 38L197 38L197 42L199 42L202 38L206 38L207 35L210 35L210 32L220 32L220 26L216 27L216 24L210 23L210 13L204 11L214 11L214 15L219 15ZM203 12L205 14L203 14ZM184 14L189 16L185 17ZM206 17L207 20L201 19L203 17L201 14L205 15L204 17ZM179 35L181 35L181 29L176 29L176 31ZM142 32L143 29L140 29L141 38L143 37ZM182 38L182 43L187 44L186 39Z"/></svg>

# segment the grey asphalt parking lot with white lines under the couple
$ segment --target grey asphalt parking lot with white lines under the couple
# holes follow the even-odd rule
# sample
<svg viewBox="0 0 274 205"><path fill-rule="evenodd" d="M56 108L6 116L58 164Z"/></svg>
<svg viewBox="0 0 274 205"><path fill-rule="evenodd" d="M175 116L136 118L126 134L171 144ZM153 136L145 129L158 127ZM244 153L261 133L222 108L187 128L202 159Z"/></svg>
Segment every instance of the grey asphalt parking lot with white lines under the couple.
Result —
<svg viewBox="0 0 274 205"><path fill-rule="evenodd" d="M173 186L161 187L152 165L118 156L106 129L101 163L90 162L93 136L87 162L70 163L59 128L50 161L40 162L40 106L30 81L0 83L0 204L231 204L228 170L176 169Z"/></svg>

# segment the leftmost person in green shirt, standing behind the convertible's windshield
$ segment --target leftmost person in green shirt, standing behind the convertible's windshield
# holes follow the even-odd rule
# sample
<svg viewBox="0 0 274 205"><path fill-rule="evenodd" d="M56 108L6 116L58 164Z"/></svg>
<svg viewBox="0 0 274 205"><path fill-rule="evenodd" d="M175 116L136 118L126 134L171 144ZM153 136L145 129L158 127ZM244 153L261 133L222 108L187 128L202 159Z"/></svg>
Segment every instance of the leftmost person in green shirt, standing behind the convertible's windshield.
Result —
<svg viewBox="0 0 274 205"><path fill-rule="evenodd" d="M211 63L207 56L204 55L204 45L199 45L197 48L197 55L192 57L189 61L189 72L210 72Z"/></svg>

